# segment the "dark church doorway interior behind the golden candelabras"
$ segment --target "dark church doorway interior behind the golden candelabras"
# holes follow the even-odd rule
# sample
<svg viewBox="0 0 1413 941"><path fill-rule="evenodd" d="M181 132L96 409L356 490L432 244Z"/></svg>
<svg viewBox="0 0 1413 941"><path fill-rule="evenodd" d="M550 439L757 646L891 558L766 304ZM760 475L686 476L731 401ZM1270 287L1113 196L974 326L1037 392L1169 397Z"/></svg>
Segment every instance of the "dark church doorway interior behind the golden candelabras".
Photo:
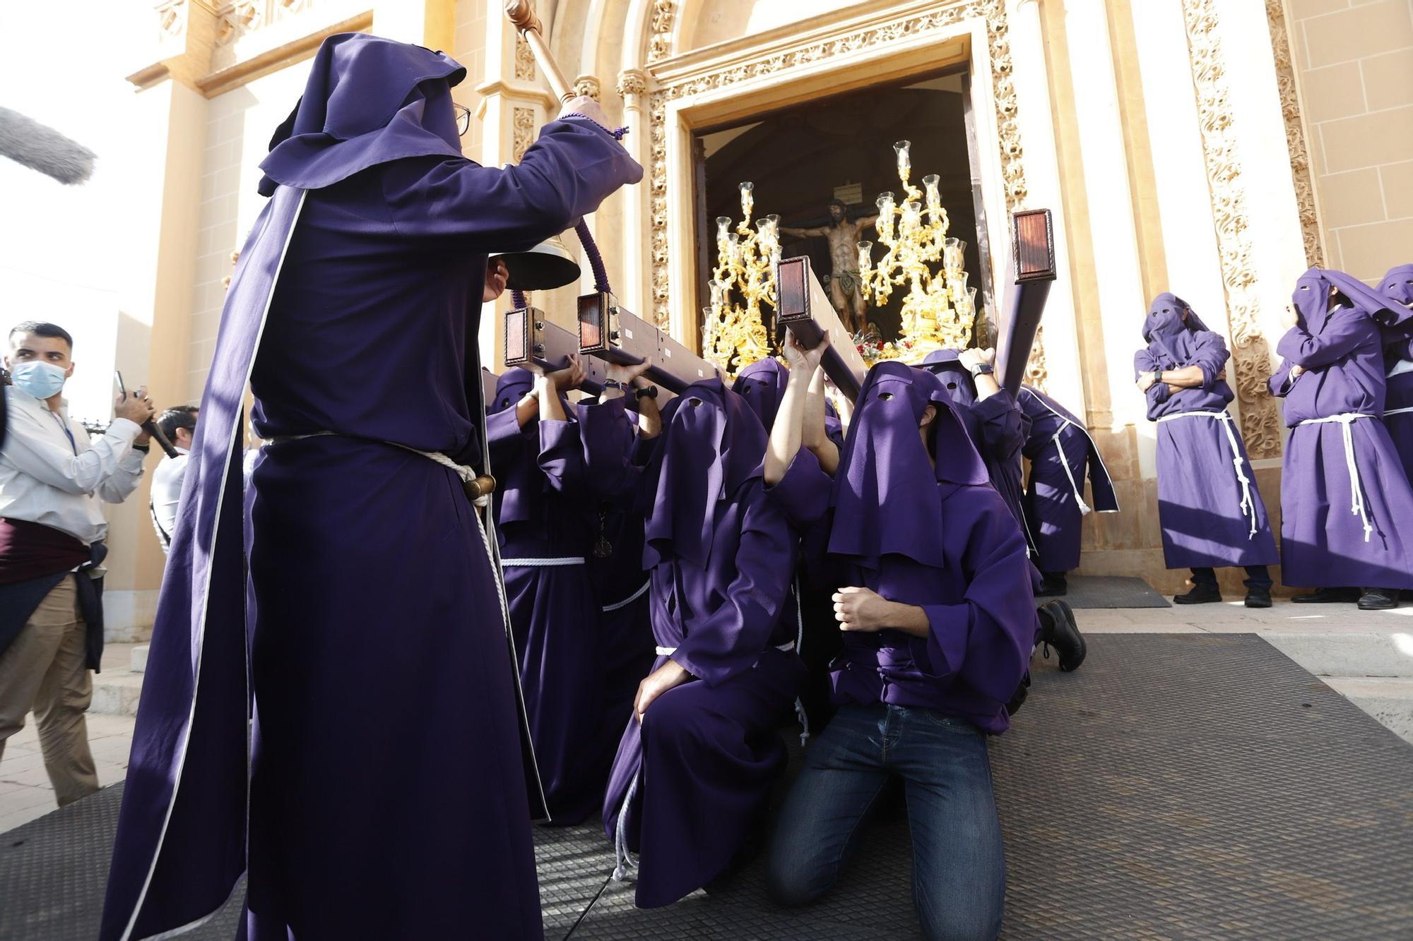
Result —
<svg viewBox="0 0 1413 941"><path fill-rule="evenodd" d="M842 202L855 225L877 213L876 198L894 192L901 198L894 141L911 141L911 181L921 188L927 174L938 175L941 203L948 215L948 235L966 243L968 284L976 292L976 339L989 342L995 302L991 297L989 247L982 208L975 133L971 112L971 76L965 66L927 79L873 86L828 99L753 116L726 127L698 130L697 157L697 273L698 297L711 297L716 264L716 218L740 220L742 181L755 184L755 216L780 216L784 257L808 254L821 276L835 273L831 236L838 243L877 240L872 223L841 230L831 202ZM796 233L784 232L793 229ZM838 250L855 257L856 250ZM873 247L875 261L883 249ZM856 267L855 261L852 267ZM933 266L934 270L941 266ZM842 290L848 281L832 285ZM868 302L866 318L880 341L896 341L906 288L894 290L883 307ZM839 294L836 294L838 297ZM767 311L769 314L769 311ZM769 318L767 318L769 321ZM767 322L771 339L774 325Z"/></svg>

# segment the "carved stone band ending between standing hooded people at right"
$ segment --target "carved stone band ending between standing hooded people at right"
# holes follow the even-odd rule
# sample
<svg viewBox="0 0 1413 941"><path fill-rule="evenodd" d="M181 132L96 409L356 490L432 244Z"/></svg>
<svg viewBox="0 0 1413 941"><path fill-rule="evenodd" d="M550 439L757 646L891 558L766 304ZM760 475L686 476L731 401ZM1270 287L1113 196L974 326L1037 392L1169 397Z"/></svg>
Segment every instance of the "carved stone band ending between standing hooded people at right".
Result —
<svg viewBox="0 0 1413 941"><path fill-rule="evenodd" d="M1246 235L1246 182L1241 153L1232 130L1226 71L1217 35L1217 0L1183 0L1187 44L1197 90L1202 153L1207 157L1207 185L1212 196L1212 220L1221 256L1222 284L1232 335L1232 367L1241 401L1241 431L1252 458L1280 455L1280 418L1266 390L1270 355L1256 322L1255 271L1251 236Z"/></svg>

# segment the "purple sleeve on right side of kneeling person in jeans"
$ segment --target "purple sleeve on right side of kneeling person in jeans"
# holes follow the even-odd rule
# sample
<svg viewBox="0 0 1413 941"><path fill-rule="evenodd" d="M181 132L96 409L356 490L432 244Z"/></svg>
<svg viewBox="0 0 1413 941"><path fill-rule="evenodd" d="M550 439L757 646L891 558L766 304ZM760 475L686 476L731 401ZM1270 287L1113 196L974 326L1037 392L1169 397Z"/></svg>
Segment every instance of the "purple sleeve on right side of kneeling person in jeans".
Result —
<svg viewBox="0 0 1413 941"><path fill-rule="evenodd" d="M911 643L927 647L933 673L924 675L959 677L1007 702L1026 673L1036 637L1026 540L995 492L959 487L947 509L955 517L972 517L961 555L966 595L955 605L923 605L928 634Z"/></svg>

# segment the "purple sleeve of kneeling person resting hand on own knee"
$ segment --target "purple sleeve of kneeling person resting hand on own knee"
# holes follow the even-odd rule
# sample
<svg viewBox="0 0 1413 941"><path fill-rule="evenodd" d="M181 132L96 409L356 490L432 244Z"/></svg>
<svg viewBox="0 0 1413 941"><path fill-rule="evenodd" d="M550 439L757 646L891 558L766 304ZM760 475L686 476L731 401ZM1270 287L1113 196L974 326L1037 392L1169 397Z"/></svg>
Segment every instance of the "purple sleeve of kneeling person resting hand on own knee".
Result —
<svg viewBox="0 0 1413 941"><path fill-rule="evenodd" d="M796 572L796 537L784 513L759 487L749 497L725 600L694 622L673 653L690 674L715 687L750 670L780 622Z"/></svg>

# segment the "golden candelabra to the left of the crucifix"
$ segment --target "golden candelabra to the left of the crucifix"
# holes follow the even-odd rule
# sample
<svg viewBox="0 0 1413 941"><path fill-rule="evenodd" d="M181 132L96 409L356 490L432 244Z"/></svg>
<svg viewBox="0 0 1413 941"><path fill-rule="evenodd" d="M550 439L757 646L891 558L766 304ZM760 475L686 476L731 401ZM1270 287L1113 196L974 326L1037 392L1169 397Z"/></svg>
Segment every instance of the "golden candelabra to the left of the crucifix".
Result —
<svg viewBox="0 0 1413 941"><path fill-rule="evenodd" d="M711 307L704 308L702 355L728 373L770 356L770 336L762 321L762 304L776 307L776 266L780 263L780 216L769 215L750 225L755 211L752 182L740 184L742 220L731 229L731 216L716 216L716 267L712 270ZM733 292L745 300L736 304Z"/></svg>

